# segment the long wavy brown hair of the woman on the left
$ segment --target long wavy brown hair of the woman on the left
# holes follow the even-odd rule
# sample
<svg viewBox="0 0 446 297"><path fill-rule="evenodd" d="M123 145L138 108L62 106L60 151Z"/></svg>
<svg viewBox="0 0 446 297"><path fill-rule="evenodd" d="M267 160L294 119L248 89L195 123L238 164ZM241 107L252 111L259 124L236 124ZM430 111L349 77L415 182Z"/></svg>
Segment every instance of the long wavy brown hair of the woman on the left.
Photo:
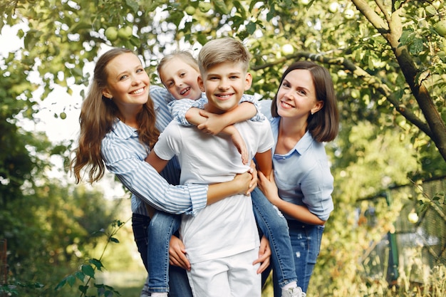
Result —
<svg viewBox="0 0 446 297"><path fill-rule="evenodd" d="M133 53L133 51L128 48L113 48L100 56L96 63L93 82L82 103L78 147L71 161L71 170L76 177L76 183L81 181L84 167L90 183L97 182L104 175L105 165L100 153L100 144L105 135L112 130L115 121L120 118L120 112L113 100L103 97L102 91L107 84L108 63L123 53ZM138 129L140 142L153 147L160 132L155 127L155 110L150 97L137 115L137 120L140 124Z"/></svg>

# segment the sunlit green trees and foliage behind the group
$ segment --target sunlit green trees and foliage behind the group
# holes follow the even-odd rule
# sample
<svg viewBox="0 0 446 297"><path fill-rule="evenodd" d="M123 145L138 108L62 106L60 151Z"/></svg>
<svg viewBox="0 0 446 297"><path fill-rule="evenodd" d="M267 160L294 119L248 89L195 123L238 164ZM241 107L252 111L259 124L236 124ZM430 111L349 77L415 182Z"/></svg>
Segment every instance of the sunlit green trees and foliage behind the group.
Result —
<svg viewBox="0 0 446 297"><path fill-rule="evenodd" d="M56 86L83 96L85 88L77 94L76 87L88 85L88 63L108 46L134 49L158 83L154 71L163 54L177 48L197 53L209 38L229 35L253 54L251 92L263 98L272 98L292 61L311 59L331 72L342 122L337 140L326 146L336 210L308 293L385 296L385 275L370 281L361 262L371 259L370 246L408 212L423 218L432 207L443 214L436 217L436 236L445 237L444 184L428 194L420 190L427 187L423 181L444 179L446 172L446 38L438 29L445 11L442 0L0 1L0 29L21 24L17 36L24 42L0 61L0 238L8 239L11 253L9 281L43 283L26 288L27 296L62 296L52 290L58 281L103 244L95 231L127 219L101 192L74 186L69 177L48 177L51 156L68 164L72 142L51 143L43 132L24 130L21 119L35 120L39 100ZM105 36L108 28L129 26L132 36ZM285 44L294 51L284 51ZM31 79L36 73L40 80ZM55 117L63 125L65 115ZM390 205L361 200L389 188L400 189ZM358 224L371 206L373 226ZM129 237L120 244L133 241ZM440 256L431 266L444 265ZM401 272L403 282L410 280L410 270ZM444 275L442 269L430 273ZM437 291L445 288L437 285Z"/></svg>

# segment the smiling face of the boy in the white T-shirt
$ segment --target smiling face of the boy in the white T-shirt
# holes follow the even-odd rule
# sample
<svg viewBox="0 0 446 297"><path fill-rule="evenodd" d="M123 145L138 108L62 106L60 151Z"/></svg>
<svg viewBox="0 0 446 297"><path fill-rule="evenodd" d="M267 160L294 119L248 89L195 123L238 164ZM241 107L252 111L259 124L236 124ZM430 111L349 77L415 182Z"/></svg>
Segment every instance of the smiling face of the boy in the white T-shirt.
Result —
<svg viewBox="0 0 446 297"><path fill-rule="evenodd" d="M202 73L198 83L206 93L206 110L226 113L236 108L244 91L251 88L252 77L241 63L219 63Z"/></svg>

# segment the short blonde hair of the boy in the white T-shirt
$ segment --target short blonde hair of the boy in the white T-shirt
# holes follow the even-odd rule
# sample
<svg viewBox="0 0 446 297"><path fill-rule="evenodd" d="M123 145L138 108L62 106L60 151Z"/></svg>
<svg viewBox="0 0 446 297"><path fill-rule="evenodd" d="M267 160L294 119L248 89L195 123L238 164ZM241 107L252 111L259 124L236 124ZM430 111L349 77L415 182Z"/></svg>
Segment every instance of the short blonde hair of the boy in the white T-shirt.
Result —
<svg viewBox="0 0 446 297"><path fill-rule="evenodd" d="M243 43L232 37L208 41L198 54L199 72L206 73L219 63L241 63L244 72L248 71L251 53Z"/></svg>

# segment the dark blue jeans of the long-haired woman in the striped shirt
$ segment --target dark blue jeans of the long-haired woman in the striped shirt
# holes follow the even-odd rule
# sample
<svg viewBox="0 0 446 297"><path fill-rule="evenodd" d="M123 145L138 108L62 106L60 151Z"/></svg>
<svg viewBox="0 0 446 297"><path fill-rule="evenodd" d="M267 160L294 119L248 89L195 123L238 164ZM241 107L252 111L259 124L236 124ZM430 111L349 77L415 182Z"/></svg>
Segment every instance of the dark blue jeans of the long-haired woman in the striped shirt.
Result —
<svg viewBox="0 0 446 297"><path fill-rule="evenodd" d="M150 224L150 217L142 216L140 214L133 214L132 227L135 242L138 246L138 251L141 254L142 262L145 269L148 271L147 254L148 254L148 236L147 229ZM167 264L169 262L167 261ZM166 273L167 274L167 273ZM170 275L170 297L192 297L187 273L184 269L177 266L169 266Z"/></svg>

